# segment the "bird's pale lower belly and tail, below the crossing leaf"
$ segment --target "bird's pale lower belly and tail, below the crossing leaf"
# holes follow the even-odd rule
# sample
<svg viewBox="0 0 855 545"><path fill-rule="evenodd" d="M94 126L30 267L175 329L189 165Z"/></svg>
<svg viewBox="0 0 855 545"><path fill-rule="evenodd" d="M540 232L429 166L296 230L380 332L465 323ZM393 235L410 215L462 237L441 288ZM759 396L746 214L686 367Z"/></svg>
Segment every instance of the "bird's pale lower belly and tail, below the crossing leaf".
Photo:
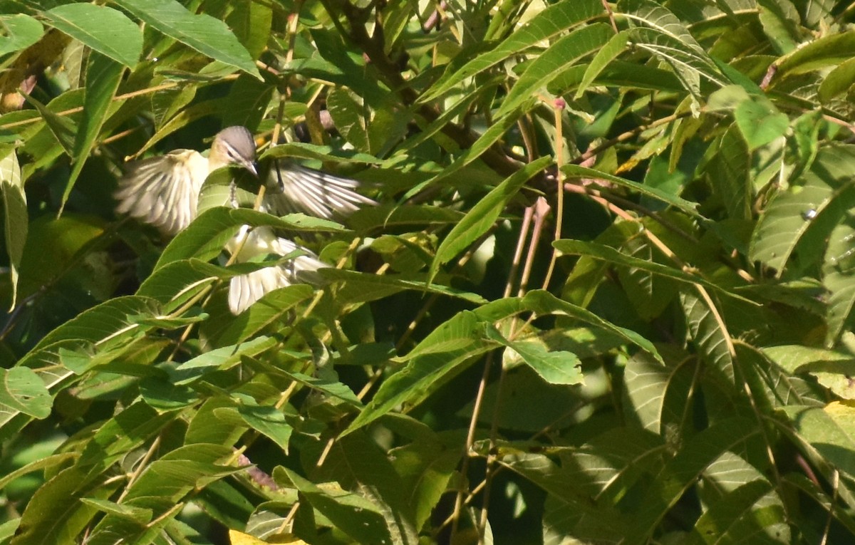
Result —
<svg viewBox="0 0 855 545"><path fill-rule="evenodd" d="M241 245L243 239L245 240ZM285 256L297 251L304 254L286 263L233 277L228 288L228 308L233 314L244 312L270 291L297 282L314 283L316 278L312 273L321 267L329 267L310 250L292 243L287 238L277 237L272 229L264 226L255 229L243 226L227 243L226 249L230 253L238 253L237 261L249 261L253 256L263 254Z"/></svg>

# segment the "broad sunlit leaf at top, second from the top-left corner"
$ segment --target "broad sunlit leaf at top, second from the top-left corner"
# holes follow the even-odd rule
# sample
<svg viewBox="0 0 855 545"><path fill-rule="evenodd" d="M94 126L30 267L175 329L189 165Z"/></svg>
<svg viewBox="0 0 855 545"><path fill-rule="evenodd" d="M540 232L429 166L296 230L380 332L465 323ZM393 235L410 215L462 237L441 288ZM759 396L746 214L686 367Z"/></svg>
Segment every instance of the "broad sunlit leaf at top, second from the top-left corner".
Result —
<svg viewBox="0 0 855 545"><path fill-rule="evenodd" d="M48 9L44 15L50 26L82 44L133 68L143 52L143 32L117 9L92 3L68 3Z"/></svg>

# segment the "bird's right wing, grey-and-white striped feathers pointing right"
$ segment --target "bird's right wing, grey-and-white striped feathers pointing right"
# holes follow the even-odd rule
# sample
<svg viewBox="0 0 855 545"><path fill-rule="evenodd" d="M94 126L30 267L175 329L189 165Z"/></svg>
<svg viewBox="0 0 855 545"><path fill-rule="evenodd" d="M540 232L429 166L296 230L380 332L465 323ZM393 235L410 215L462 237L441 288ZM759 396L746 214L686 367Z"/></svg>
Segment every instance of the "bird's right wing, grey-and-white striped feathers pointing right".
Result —
<svg viewBox="0 0 855 545"><path fill-rule="evenodd" d="M267 178L264 206L272 214L302 212L327 220L356 212L360 206L377 202L357 193L355 179L275 160Z"/></svg>

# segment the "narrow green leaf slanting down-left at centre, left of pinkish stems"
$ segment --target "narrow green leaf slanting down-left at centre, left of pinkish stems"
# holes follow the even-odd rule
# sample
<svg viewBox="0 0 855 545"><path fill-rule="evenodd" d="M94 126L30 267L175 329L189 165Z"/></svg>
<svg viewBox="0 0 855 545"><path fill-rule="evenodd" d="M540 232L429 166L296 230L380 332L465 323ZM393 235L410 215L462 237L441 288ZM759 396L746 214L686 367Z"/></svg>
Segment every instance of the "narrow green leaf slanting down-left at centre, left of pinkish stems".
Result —
<svg viewBox="0 0 855 545"><path fill-rule="evenodd" d="M551 157L541 157L537 161L528 163L504 179L501 184L475 204L469 213L463 217L463 220L460 220L439 244L439 249L436 251L436 256L433 258L428 273L428 283L436 277L440 265L451 261L455 255L469 248L469 244L474 243L478 237L486 233L492 224L498 220L499 214L502 213L510 199L522 188L522 185L550 163Z"/></svg>

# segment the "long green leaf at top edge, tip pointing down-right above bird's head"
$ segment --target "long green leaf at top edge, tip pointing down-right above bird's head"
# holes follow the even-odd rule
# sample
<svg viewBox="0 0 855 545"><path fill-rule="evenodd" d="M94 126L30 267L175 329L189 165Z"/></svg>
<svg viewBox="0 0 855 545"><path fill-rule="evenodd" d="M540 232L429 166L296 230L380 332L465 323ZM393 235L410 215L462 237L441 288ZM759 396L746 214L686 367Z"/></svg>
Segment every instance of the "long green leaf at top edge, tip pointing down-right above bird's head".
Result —
<svg viewBox="0 0 855 545"><path fill-rule="evenodd" d="M223 21L193 14L174 0L117 0L116 3L168 37L261 79L249 51Z"/></svg>

